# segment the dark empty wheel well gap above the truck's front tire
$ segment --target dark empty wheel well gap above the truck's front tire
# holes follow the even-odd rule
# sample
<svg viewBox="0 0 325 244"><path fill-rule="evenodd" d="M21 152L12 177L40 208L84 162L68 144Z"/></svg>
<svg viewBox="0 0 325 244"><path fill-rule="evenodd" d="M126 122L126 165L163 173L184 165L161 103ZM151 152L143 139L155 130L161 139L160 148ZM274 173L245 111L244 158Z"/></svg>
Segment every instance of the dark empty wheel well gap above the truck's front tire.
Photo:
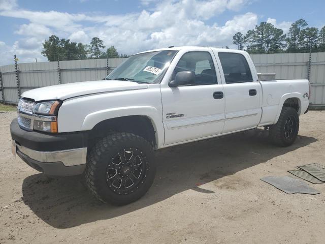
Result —
<svg viewBox="0 0 325 244"><path fill-rule="evenodd" d="M88 151L96 141L112 132L128 132L146 139L153 147L156 146L155 130L150 118L142 115L110 118L95 125L88 136Z"/></svg>

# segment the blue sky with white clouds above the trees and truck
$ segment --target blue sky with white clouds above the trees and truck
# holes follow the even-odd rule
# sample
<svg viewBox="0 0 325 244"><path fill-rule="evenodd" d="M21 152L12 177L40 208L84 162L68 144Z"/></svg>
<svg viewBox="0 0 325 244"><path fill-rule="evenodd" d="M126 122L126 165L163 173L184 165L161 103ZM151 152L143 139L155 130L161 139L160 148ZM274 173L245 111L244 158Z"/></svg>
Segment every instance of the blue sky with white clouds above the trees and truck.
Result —
<svg viewBox="0 0 325 244"><path fill-rule="evenodd" d="M232 36L261 21L287 29L304 18L325 25L325 1L291 0L0 0L0 65L46 60L42 42L51 34L89 43L100 37L118 52L169 45L230 46Z"/></svg>

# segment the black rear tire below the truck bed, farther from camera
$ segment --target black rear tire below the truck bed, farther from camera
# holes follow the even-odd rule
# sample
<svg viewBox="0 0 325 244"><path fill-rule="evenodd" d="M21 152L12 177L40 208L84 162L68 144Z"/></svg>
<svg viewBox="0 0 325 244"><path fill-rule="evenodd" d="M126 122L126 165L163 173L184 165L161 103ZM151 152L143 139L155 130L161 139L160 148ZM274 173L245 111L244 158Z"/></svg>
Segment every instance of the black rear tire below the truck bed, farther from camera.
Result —
<svg viewBox="0 0 325 244"><path fill-rule="evenodd" d="M287 121L293 121L293 130L287 136L286 126ZM292 145L299 131L299 116L296 109L291 107L283 107L277 123L269 128L269 137L273 144L278 146Z"/></svg>

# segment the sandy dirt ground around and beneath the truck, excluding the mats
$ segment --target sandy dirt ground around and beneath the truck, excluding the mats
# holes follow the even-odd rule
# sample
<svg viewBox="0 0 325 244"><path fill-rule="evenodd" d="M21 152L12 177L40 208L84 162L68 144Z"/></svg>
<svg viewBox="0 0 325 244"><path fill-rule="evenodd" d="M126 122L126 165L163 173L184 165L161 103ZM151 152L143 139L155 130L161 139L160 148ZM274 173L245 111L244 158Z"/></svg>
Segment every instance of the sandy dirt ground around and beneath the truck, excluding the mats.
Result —
<svg viewBox="0 0 325 244"><path fill-rule="evenodd" d="M13 159L15 116L0 113L0 243L324 243L325 184L288 195L259 178L325 165L325 111L301 116L286 148L256 129L157 151L153 186L123 207L94 199L81 176L47 178Z"/></svg>

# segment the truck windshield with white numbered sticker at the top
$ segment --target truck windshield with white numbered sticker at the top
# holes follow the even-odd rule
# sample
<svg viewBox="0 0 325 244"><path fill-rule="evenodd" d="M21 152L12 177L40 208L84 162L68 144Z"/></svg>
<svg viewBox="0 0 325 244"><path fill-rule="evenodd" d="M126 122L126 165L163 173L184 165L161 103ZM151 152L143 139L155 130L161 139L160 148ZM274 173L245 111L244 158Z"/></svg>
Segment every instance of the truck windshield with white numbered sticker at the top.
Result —
<svg viewBox="0 0 325 244"><path fill-rule="evenodd" d="M169 67L177 51L145 52L129 57L106 80L127 80L138 83L157 83Z"/></svg>

